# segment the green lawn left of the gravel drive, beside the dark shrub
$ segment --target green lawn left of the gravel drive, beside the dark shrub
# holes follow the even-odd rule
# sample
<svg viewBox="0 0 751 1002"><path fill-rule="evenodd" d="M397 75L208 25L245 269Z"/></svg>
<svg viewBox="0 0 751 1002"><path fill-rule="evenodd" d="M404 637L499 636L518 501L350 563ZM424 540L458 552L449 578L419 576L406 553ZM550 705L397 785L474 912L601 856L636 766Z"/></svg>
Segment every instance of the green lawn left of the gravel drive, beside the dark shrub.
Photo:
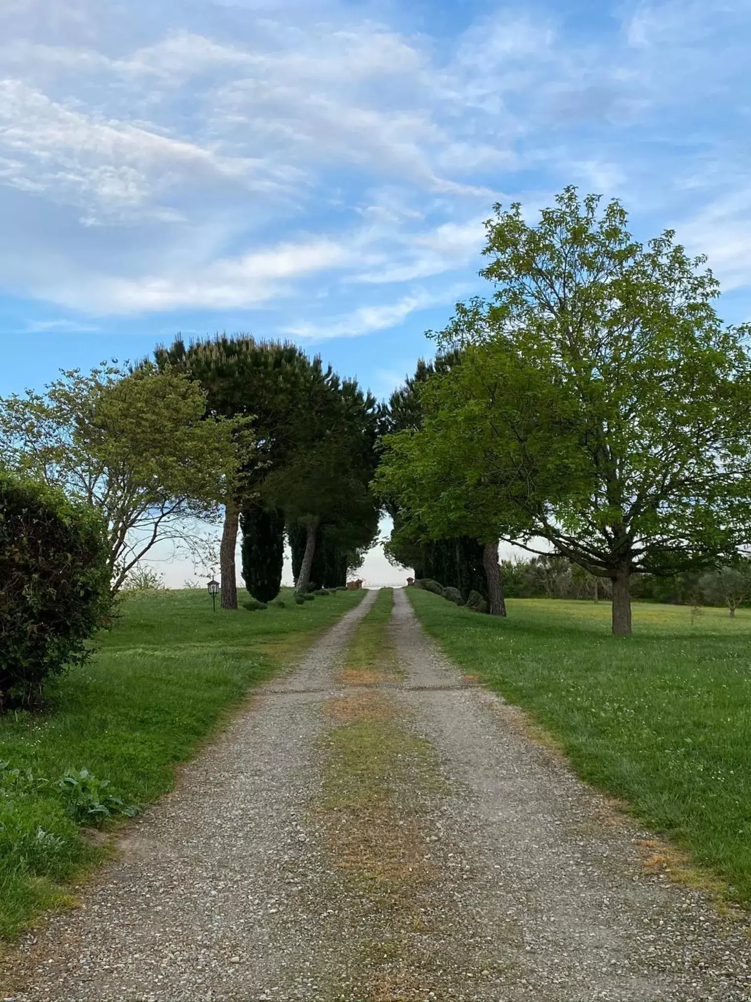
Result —
<svg viewBox="0 0 751 1002"><path fill-rule="evenodd" d="M222 712L363 594L339 591L297 606L283 589L284 608L215 615L202 590L127 596L89 663L50 682L47 711L0 717L0 761L32 777L14 784L6 774L0 784L0 936L64 901L66 878L102 854L39 778L86 769L110 781L125 805L153 801Z"/></svg>

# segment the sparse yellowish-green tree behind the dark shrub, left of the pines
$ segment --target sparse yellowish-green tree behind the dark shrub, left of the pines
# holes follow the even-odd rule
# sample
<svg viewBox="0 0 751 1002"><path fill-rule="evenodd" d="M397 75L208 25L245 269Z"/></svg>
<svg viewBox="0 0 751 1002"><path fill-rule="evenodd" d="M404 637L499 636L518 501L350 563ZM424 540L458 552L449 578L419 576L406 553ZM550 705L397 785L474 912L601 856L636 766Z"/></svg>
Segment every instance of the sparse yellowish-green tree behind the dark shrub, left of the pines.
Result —
<svg viewBox="0 0 751 1002"><path fill-rule="evenodd" d="M215 514L251 442L245 421L206 419L196 383L144 364L65 372L44 394L0 400L0 449L100 512L116 592L159 538L200 544L186 518Z"/></svg>

